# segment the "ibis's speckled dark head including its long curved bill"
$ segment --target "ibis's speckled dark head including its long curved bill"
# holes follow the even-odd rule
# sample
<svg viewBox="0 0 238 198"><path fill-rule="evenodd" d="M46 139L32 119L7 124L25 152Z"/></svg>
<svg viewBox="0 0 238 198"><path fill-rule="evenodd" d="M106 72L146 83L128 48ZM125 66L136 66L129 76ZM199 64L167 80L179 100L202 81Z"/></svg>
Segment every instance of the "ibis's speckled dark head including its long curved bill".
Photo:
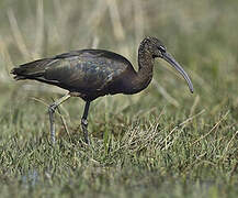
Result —
<svg viewBox="0 0 238 198"><path fill-rule="evenodd" d="M190 77L172 55L167 52L166 46L158 38L148 36L143 40L140 45L144 45L145 50L152 56L152 58L162 58L174 67L186 80L190 91L193 92L193 84Z"/></svg>

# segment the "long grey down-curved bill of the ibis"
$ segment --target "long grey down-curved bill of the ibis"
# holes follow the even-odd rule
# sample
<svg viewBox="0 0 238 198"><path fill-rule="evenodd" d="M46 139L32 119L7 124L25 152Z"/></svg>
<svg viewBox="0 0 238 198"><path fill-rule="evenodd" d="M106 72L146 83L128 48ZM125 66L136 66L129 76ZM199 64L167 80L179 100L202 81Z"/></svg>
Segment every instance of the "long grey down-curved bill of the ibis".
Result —
<svg viewBox="0 0 238 198"><path fill-rule="evenodd" d="M185 70L183 70L183 68L180 66L180 64L169 53L162 53L162 58L167 61L170 65L172 65L183 76L183 78L189 85L190 91L193 94L193 84Z"/></svg>

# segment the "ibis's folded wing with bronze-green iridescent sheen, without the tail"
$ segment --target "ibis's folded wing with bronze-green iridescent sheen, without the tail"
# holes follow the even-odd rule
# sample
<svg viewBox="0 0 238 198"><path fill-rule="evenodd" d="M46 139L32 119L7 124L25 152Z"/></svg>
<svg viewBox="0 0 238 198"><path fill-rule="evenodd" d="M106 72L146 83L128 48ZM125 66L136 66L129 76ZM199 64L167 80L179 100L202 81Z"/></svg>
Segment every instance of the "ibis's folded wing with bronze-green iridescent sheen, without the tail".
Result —
<svg viewBox="0 0 238 198"><path fill-rule="evenodd" d="M60 87L82 92L104 89L118 78L131 63L121 55L100 50L76 51L55 56L44 78Z"/></svg>

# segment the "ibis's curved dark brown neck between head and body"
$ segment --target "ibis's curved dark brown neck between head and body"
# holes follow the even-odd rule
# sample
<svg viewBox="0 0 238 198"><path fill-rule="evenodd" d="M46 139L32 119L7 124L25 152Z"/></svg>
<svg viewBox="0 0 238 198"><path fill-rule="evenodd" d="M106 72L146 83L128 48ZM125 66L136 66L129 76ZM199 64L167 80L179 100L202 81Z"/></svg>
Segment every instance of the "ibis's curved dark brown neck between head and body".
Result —
<svg viewBox="0 0 238 198"><path fill-rule="evenodd" d="M141 42L138 48L138 72L133 80L135 92L145 89L152 79L155 59L148 47L146 43Z"/></svg>

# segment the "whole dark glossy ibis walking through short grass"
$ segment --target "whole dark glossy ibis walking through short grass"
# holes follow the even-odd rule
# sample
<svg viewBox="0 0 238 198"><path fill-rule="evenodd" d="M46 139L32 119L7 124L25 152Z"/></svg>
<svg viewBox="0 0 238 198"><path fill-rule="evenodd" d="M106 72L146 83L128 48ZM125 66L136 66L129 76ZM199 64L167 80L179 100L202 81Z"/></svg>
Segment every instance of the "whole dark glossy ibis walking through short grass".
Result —
<svg viewBox="0 0 238 198"><path fill-rule="evenodd" d="M20 65L12 69L14 79L34 79L67 89L69 92L48 108L50 135L55 143L54 112L71 96L86 101L81 127L86 143L90 102L105 95L133 95L145 89L152 78L155 58L160 57L173 66L186 80L190 91L193 85L165 45L156 37L146 37L138 48L138 72L123 56L104 50L81 50Z"/></svg>

